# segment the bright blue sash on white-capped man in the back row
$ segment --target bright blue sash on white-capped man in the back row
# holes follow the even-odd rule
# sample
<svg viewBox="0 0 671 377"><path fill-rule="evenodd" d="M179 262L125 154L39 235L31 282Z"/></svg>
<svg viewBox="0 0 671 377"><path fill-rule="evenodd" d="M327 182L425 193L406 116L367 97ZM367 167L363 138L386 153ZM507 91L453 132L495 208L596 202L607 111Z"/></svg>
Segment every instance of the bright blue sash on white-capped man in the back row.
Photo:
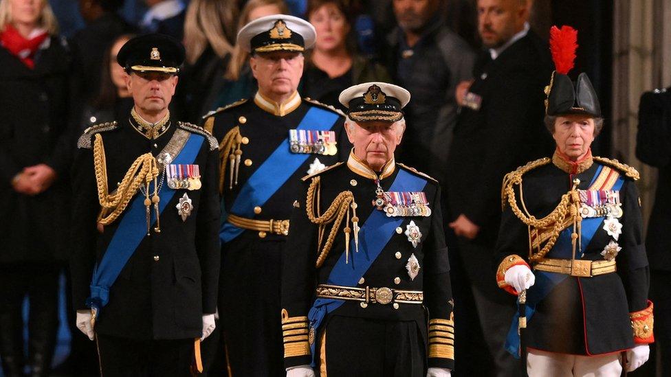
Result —
<svg viewBox="0 0 671 377"><path fill-rule="evenodd" d="M336 124L339 116L325 108L311 107L296 129L330 130ZM253 218L254 206L263 206L284 185L287 179L294 175L308 157L307 154L292 153L289 150L289 137L284 139L272 152L272 155L263 161L261 166L250 176L250 179L245 182L231 206L230 213L245 218ZM222 210L221 213L226 214L225 210ZM229 242L240 236L245 230L230 224L225 220L225 216L221 218L222 224L219 230L221 242Z"/></svg>

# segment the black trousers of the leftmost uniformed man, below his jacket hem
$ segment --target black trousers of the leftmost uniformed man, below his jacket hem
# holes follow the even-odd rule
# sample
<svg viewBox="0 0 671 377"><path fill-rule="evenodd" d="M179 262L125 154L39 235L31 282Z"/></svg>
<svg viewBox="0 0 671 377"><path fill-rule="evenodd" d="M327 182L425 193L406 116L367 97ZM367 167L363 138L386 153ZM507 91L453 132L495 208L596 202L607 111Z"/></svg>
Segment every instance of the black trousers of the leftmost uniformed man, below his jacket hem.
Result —
<svg viewBox="0 0 671 377"><path fill-rule="evenodd" d="M135 340L97 335L104 377L191 376L193 339Z"/></svg>

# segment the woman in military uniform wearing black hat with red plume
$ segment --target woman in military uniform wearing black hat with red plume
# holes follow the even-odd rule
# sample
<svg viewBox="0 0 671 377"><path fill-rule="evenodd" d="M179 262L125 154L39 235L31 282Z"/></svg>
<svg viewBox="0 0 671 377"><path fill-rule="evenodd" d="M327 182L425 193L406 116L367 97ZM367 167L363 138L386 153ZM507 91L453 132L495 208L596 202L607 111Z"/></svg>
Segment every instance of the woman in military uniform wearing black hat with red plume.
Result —
<svg viewBox="0 0 671 377"><path fill-rule="evenodd" d="M567 76L576 41L571 27L550 31L556 71L545 123L554 155L503 181L496 280L526 295L526 349L517 316L506 348L515 356L528 350L529 376L619 376L648 360L653 341L639 173L592 156L604 119L586 74Z"/></svg>

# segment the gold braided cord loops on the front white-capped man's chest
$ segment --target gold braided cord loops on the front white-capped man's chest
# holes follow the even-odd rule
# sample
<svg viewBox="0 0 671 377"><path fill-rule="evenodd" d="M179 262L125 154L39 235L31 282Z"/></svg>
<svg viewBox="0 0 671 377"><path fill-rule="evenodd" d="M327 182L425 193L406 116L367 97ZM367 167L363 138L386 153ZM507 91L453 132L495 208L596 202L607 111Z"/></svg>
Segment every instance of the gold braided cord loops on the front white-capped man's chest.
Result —
<svg viewBox="0 0 671 377"><path fill-rule="evenodd" d="M319 208L317 208L317 214L315 216L314 203L315 201L319 201L318 196L320 191L320 178L320 176L315 176L312 178L310 186L307 189L307 200L305 203L305 212L307 213L307 217L313 224L319 225L319 240L317 249L321 248L323 241L322 236L326 226L331 224L331 222L333 222L333 226L331 227L329 236L317 258L317 268L324 264L324 261L329 255L329 251L331 251L331 247L333 247L333 241L336 240L336 234L338 233L342 219L346 214L349 214L349 208L354 203L354 194L352 194L351 191L344 191L338 194L335 199L333 199L333 203L329 205L329 208L323 214L319 214ZM319 203L317 203L317 205L319 205ZM349 229L349 224L345 225L344 232L346 233L346 236L349 235L349 231L351 231L351 229ZM349 237L346 238L347 240L345 242L348 244L346 246L349 246Z"/></svg>

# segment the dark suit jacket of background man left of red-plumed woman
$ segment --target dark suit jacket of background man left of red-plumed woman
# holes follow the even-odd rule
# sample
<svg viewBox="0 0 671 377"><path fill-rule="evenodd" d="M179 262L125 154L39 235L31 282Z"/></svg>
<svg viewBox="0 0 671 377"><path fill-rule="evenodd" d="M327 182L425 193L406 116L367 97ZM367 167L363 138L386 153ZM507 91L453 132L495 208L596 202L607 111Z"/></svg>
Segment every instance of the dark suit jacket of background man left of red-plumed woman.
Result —
<svg viewBox="0 0 671 377"><path fill-rule="evenodd" d="M465 214L481 229L474 242L493 248L500 219L503 176L527 161L552 153L543 124L545 95L552 72L549 49L529 31L492 60L483 52L469 91L480 108L461 108L448 157L449 218Z"/></svg>

